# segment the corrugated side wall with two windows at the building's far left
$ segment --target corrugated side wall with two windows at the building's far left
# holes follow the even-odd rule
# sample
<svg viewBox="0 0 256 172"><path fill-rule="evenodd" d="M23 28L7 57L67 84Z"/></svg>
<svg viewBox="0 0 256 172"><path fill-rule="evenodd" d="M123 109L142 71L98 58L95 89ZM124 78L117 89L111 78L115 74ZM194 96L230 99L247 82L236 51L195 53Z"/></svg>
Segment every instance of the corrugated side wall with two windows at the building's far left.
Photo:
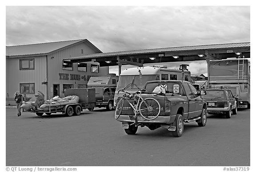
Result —
<svg viewBox="0 0 256 172"><path fill-rule="evenodd" d="M20 70L20 59L34 58L34 70ZM23 57L23 58L6 58L6 98L14 99L16 91L20 91L20 83L35 83L35 93L37 91L46 92L46 85L41 83L46 78L46 57ZM27 94L27 97L35 99L34 94Z"/></svg>

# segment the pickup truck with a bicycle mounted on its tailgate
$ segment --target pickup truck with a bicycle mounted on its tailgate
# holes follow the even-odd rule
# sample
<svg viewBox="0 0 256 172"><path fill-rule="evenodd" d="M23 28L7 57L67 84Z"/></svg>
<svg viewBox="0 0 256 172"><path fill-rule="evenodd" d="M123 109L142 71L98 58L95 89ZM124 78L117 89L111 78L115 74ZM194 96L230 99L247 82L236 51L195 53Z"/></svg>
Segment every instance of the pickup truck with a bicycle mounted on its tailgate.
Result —
<svg viewBox="0 0 256 172"><path fill-rule="evenodd" d="M153 93L154 88L161 86L165 90L165 94ZM125 91L124 91L125 92ZM116 113L119 111L119 116L115 118L122 122L122 127L126 134L136 134L138 126L147 126L150 130L155 130L163 127L172 132L175 137L180 137L184 131L184 122L196 121L198 126L205 126L207 121L207 104L206 100L201 96L205 95L205 90L197 92L196 88L188 81L181 80L155 80L148 81L143 90L135 93L134 96L127 96L123 100L122 107L116 107ZM125 93L124 96L127 94ZM159 111L158 116L152 120L143 117L142 112L137 112L131 108L128 103L136 104L138 95L142 99L155 99L160 107L156 108ZM161 96L160 96L161 95ZM119 98L117 102L120 100ZM138 103L138 102L137 102ZM120 104L120 103L118 103ZM118 105L117 104L117 105ZM142 103L139 103L141 107ZM150 106L150 105L149 105ZM148 107L148 113L154 110L153 107ZM147 113L147 112L144 112Z"/></svg>

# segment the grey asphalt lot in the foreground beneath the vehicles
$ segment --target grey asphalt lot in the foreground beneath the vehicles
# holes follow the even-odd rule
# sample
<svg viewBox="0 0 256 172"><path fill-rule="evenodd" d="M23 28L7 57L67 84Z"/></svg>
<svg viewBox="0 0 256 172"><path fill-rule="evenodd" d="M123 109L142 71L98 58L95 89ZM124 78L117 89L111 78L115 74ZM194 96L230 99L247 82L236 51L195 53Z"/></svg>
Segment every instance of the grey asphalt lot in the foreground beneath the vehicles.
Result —
<svg viewBox="0 0 256 172"><path fill-rule="evenodd" d="M250 166L250 110L185 123L182 137L139 127L127 135L114 111L36 116L6 109L6 166Z"/></svg>

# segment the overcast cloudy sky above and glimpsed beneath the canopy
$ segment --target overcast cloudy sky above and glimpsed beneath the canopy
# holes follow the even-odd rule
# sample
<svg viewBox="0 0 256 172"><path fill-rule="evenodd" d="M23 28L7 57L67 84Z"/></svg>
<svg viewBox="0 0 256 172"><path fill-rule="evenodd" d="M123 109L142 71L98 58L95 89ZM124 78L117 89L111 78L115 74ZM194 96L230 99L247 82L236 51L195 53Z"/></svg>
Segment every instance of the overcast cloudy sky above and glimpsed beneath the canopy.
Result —
<svg viewBox="0 0 256 172"><path fill-rule="evenodd" d="M104 53L250 42L250 7L6 7L6 46L75 39L88 39ZM192 74L207 76L206 61L185 63ZM180 64L167 65L177 69ZM109 70L118 73L117 66Z"/></svg>

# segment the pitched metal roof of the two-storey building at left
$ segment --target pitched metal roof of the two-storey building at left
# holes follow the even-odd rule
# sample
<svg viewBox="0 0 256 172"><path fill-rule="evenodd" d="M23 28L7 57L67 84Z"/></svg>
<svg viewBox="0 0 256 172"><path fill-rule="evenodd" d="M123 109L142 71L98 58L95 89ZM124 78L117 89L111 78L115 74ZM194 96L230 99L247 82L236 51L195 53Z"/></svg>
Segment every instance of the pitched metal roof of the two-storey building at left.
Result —
<svg viewBox="0 0 256 172"><path fill-rule="evenodd" d="M20 46L6 46L6 56L20 56L20 55L32 55L32 54L49 54L53 51L59 50L64 47L72 46L73 44L86 42L92 46L98 53L102 53L96 46L94 46L87 39L78 39L70 41L60 42L46 42L38 44L28 44Z"/></svg>

